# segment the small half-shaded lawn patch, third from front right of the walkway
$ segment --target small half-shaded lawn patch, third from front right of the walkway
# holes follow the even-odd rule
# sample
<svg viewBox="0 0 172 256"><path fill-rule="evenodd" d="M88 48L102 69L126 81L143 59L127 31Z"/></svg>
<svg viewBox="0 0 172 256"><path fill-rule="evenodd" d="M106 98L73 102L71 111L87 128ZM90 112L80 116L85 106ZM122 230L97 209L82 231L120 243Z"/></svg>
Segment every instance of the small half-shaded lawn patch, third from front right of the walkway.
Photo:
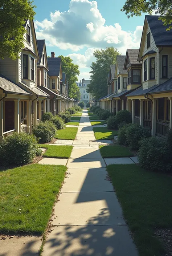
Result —
<svg viewBox="0 0 172 256"><path fill-rule="evenodd" d="M115 135L118 135L118 131L109 130L106 127L93 127L94 136L97 140L100 139L113 139Z"/></svg>

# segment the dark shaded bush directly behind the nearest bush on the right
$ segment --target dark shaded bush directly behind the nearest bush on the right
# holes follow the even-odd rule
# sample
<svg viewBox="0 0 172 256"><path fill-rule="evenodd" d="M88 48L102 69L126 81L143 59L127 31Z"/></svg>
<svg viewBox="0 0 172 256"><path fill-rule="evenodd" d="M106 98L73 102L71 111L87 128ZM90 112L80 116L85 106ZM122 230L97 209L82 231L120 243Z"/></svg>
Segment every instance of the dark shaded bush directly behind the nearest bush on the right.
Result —
<svg viewBox="0 0 172 256"><path fill-rule="evenodd" d="M131 150L138 150L140 139L150 136L150 131L138 124L132 123L126 129L127 143Z"/></svg>

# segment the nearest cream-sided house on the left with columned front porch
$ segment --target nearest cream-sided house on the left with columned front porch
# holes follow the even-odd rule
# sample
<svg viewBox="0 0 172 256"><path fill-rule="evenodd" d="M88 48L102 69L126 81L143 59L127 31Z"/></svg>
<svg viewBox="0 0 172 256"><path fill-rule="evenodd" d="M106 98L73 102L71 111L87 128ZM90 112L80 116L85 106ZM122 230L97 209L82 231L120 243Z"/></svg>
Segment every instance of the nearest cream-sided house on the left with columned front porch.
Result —
<svg viewBox="0 0 172 256"><path fill-rule="evenodd" d="M24 48L16 61L0 60L0 142L14 131L32 133L49 94L37 87L39 51L33 20L26 20Z"/></svg>

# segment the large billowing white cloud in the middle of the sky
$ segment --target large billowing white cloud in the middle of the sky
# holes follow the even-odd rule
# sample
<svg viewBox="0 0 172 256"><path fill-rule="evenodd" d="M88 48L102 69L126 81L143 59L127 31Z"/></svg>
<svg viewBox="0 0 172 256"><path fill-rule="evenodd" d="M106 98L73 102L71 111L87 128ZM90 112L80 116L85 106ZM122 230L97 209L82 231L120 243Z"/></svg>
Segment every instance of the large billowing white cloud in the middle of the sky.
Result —
<svg viewBox="0 0 172 256"><path fill-rule="evenodd" d="M105 19L96 1L71 0L69 10L50 13L50 19L35 22L38 38L47 44L75 52L83 47L106 48L114 46L122 54L126 48L138 48L142 26L134 32L124 31L120 24L105 26Z"/></svg>

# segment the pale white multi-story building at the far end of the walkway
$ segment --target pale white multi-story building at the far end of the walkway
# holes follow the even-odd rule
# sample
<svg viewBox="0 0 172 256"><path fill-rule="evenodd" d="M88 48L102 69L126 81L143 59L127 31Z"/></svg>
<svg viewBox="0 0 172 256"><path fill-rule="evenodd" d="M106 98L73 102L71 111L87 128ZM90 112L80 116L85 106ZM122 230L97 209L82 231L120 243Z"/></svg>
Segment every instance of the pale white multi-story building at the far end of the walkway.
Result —
<svg viewBox="0 0 172 256"><path fill-rule="evenodd" d="M84 103L92 102L93 97L90 93L87 92L89 84L90 84L90 80L85 80L84 78L82 78L82 81L77 83L81 93L80 101L83 101Z"/></svg>

